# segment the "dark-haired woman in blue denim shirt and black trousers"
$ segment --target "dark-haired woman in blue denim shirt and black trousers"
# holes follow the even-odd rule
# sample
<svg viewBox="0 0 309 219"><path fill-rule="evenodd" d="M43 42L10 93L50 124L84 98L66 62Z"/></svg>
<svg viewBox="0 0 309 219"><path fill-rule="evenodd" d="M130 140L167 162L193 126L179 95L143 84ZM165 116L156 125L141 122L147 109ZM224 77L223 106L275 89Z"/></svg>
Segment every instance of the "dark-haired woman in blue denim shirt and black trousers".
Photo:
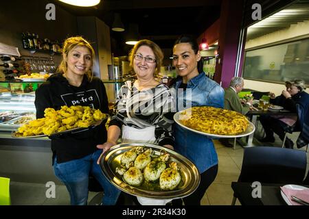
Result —
<svg viewBox="0 0 309 219"><path fill-rule="evenodd" d="M181 36L176 40L173 64L179 75L179 79L174 83L177 111L202 105L223 108L224 90L218 83L206 77L205 73L198 73L200 60L201 54L196 40L190 36ZM201 199L218 172L218 155L214 143L211 138L183 129L179 125L174 127L174 137L174 150L189 158L201 175L200 185L194 193L183 198L183 202L185 205L201 205ZM176 199L173 204L181 203Z"/></svg>

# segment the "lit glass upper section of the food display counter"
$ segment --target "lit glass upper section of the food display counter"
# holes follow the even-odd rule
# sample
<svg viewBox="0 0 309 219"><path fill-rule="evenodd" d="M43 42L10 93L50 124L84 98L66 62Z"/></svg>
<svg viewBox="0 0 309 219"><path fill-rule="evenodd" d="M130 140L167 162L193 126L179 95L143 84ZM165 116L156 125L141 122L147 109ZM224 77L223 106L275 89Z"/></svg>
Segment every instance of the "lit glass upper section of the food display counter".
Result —
<svg viewBox="0 0 309 219"><path fill-rule="evenodd" d="M36 118L34 92L41 83L0 81L0 131L15 131Z"/></svg>

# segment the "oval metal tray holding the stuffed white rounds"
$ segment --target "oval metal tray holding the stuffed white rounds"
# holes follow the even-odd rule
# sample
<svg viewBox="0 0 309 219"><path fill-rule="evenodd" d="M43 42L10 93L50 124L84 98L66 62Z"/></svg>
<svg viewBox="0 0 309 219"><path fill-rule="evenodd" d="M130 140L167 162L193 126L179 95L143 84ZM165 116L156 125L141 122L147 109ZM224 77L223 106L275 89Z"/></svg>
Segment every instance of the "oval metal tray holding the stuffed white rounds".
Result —
<svg viewBox="0 0 309 219"><path fill-rule="evenodd" d="M115 169L120 165L122 154L126 151L129 151L130 149L133 149L135 146L145 146L147 148L151 148L152 151L155 151L155 155L159 155L161 150L164 150L170 154L170 161L177 163L181 173L181 183L179 183L175 190L163 191L159 188L159 185L157 185L156 188L153 187L153 184L148 188L148 185L145 185L146 182L142 183L139 187L134 187L132 185L128 185L122 180L122 177L115 172ZM183 157L183 155L180 155L175 151L167 149L163 146L157 146L155 144L117 144L111 147L109 151L104 153L100 161L100 166L104 175L109 181L111 181L111 183L113 183L113 185L119 188L119 190L122 190L123 192L133 196L155 199L182 198L192 194L192 192L196 190L200 183L198 169L192 162L190 162L189 159Z"/></svg>

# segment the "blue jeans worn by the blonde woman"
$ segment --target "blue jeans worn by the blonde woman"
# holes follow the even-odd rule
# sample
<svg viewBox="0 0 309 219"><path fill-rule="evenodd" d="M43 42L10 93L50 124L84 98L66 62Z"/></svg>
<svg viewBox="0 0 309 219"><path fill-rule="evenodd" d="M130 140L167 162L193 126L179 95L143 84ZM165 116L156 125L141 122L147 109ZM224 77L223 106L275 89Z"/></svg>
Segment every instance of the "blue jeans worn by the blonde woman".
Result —
<svg viewBox="0 0 309 219"><path fill-rule="evenodd" d="M54 160L54 171L56 177L60 179L71 198L71 205L87 205L88 200L88 181L89 173L91 172L95 179L104 188L104 196L102 199L103 205L115 205L120 194L118 190L102 173L97 160L100 157L102 150L95 151L86 157L73 159L69 162L57 164Z"/></svg>

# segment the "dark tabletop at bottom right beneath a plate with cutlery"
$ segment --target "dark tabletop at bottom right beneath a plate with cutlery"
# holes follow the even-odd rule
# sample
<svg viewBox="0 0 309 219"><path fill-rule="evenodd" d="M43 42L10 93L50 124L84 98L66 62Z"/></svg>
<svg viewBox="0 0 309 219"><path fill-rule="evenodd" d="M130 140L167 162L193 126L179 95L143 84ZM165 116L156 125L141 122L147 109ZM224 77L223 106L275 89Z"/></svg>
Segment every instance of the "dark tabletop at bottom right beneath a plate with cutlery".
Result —
<svg viewBox="0 0 309 219"><path fill-rule="evenodd" d="M286 184L261 184L261 196L253 197L252 192L255 187L251 187L252 183L232 182L231 188L236 194L241 205L288 205L281 195L280 186ZM303 185L309 188L309 185ZM255 193L255 192L253 192Z"/></svg>

